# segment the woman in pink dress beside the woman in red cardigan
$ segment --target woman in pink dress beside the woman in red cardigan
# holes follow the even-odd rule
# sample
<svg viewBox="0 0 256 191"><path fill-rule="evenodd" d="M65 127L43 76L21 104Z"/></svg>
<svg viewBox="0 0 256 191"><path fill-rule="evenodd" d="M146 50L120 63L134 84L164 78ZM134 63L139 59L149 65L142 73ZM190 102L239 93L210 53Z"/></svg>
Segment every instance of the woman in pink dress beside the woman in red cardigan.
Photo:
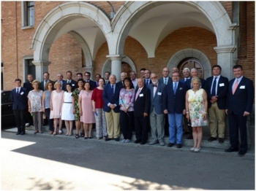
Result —
<svg viewBox="0 0 256 191"><path fill-rule="evenodd" d="M91 104L91 95L93 90L91 90L91 85L89 82L84 84L85 90L81 90L79 94L79 112L80 112L80 121L83 122L84 128L84 139L91 139L91 129L92 124L95 123L94 112L92 112L92 104ZM87 131L89 128L89 136L87 135Z"/></svg>

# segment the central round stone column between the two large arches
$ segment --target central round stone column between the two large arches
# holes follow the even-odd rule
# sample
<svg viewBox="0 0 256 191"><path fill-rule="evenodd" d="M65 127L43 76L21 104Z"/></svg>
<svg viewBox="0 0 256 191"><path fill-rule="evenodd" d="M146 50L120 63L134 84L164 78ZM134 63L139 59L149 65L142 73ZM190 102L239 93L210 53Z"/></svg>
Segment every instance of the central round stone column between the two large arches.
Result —
<svg viewBox="0 0 256 191"><path fill-rule="evenodd" d="M121 74L121 60L124 58L121 55L107 55L111 59L111 74L116 75L116 82L119 82Z"/></svg>

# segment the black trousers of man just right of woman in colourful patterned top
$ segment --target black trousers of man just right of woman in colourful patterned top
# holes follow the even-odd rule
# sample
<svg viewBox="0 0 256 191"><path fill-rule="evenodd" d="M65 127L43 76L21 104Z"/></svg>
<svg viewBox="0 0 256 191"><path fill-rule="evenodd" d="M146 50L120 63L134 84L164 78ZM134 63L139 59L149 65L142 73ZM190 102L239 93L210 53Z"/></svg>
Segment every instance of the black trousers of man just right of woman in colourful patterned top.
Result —
<svg viewBox="0 0 256 191"><path fill-rule="evenodd" d="M135 117L135 133L138 141L148 140L148 117Z"/></svg>

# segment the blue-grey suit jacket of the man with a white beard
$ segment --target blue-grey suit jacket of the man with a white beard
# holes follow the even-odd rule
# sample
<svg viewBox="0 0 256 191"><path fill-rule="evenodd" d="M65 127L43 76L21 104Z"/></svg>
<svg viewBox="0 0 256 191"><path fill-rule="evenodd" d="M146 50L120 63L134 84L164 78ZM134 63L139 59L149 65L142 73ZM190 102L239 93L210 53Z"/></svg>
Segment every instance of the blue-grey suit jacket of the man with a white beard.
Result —
<svg viewBox="0 0 256 191"><path fill-rule="evenodd" d="M151 98L150 113L153 112L153 108L154 108L157 114L164 114L163 112L164 109L162 107L162 97L165 89L165 84L160 82L157 84L157 91L155 95L154 95L153 83L148 85L148 89L150 90L150 98Z"/></svg>

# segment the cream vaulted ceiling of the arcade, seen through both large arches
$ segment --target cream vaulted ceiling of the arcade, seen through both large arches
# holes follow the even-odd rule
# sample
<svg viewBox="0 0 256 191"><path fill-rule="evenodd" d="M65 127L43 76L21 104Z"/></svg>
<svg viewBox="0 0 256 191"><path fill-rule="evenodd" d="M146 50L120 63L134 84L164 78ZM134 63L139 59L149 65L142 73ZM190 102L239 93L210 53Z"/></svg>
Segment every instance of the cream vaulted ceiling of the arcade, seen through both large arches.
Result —
<svg viewBox="0 0 256 191"><path fill-rule="evenodd" d="M143 45L148 57L154 57L157 46L165 37L177 30L188 26L205 28L214 33L211 22L203 15L200 10L188 4L162 4L144 12L129 30L128 36L136 39ZM62 34L75 31L83 39L91 52L94 60L99 47L106 42L105 35L94 21L87 18L77 18L70 20L56 34L58 39Z"/></svg>

